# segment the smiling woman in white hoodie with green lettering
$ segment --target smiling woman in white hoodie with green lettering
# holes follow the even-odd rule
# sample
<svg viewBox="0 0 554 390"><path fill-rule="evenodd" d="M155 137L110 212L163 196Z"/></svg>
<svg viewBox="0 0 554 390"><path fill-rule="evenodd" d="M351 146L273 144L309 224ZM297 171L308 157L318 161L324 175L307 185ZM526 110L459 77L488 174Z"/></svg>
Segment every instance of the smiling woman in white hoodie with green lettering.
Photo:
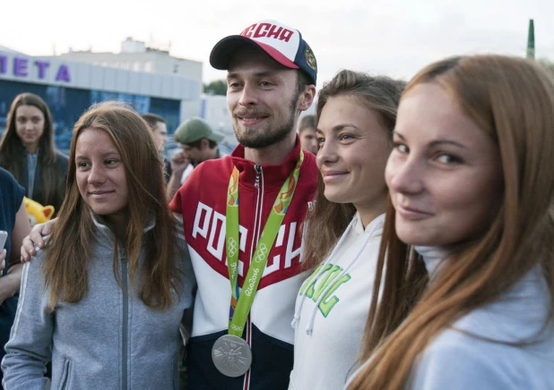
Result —
<svg viewBox="0 0 554 390"><path fill-rule="evenodd" d="M385 164L402 81L342 71L319 92L315 207L308 216L290 389L344 386L358 358L385 213Z"/></svg>

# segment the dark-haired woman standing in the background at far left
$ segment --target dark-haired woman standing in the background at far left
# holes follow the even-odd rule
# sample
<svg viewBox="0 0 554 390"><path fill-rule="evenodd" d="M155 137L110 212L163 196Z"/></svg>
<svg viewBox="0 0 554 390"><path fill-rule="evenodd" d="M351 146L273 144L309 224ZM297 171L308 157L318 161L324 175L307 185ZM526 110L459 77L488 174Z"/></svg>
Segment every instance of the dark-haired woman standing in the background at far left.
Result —
<svg viewBox="0 0 554 390"><path fill-rule="evenodd" d="M25 196L56 213L65 197L67 156L54 146L52 116L45 101L22 93L13 99L0 140L0 166L25 189Z"/></svg>

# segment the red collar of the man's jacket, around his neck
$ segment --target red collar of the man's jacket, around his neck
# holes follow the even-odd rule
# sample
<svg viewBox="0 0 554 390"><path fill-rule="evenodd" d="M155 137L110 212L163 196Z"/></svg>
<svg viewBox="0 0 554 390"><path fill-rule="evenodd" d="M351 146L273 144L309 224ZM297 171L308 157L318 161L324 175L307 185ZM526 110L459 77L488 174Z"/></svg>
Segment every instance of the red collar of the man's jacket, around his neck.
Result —
<svg viewBox="0 0 554 390"><path fill-rule="evenodd" d="M282 183L289 177L299 160L300 148L300 139L297 134L296 146L280 165L261 165L266 191L278 191L281 189ZM245 147L239 144L231 153L230 158L240 173L240 186L254 187L255 164L253 161L245 158Z"/></svg>

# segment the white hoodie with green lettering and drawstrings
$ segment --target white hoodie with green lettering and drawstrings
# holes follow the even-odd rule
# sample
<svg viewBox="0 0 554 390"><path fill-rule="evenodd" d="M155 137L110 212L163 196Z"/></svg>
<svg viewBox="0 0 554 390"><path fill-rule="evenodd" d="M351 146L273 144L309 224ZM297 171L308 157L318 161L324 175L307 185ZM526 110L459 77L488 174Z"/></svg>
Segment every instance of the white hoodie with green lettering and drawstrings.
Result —
<svg viewBox="0 0 554 390"><path fill-rule="evenodd" d="M359 357L385 216L364 230L359 215L296 301L290 390L336 390ZM325 290L327 290L325 292Z"/></svg>

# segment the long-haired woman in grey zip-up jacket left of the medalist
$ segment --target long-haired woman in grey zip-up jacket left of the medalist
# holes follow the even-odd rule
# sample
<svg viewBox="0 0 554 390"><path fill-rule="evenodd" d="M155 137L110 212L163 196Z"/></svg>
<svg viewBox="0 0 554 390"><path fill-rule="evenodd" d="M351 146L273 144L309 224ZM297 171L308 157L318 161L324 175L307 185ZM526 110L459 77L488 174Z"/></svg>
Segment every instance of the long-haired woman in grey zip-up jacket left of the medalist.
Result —
<svg viewBox="0 0 554 390"><path fill-rule="evenodd" d="M5 389L177 389L179 324L195 276L161 161L132 110L75 124L56 231L23 270Z"/></svg>

